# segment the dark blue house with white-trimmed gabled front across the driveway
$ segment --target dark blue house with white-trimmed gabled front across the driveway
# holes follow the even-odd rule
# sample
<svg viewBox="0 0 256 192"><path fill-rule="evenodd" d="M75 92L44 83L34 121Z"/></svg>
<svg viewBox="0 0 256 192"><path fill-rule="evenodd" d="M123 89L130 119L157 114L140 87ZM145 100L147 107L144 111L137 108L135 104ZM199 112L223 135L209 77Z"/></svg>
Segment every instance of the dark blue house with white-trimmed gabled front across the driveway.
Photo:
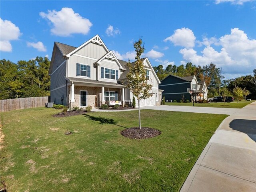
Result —
<svg viewBox="0 0 256 192"><path fill-rule="evenodd" d="M162 94L165 100L181 100L182 95L186 100L190 100L191 96L189 90L193 91L194 99L207 100L208 89L205 82L198 82L196 76L178 77L175 75L168 75L161 81L159 88L164 90Z"/></svg>

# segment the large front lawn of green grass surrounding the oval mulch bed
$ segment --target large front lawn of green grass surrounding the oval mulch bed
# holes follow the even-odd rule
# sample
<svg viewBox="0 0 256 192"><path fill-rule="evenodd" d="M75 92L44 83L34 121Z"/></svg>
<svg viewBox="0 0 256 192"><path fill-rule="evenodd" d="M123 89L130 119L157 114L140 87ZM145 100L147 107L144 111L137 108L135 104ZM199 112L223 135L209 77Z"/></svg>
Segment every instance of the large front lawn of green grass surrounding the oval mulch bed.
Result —
<svg viewBox="0 0 256 192"><path fill-rule="evenodd" d="M226 115L142 110L162 133L123 137L138 111L54 118L52 108L1 113L1 188L7 191L179 191ZM70 130L71 135L64 132Z"/></svg>

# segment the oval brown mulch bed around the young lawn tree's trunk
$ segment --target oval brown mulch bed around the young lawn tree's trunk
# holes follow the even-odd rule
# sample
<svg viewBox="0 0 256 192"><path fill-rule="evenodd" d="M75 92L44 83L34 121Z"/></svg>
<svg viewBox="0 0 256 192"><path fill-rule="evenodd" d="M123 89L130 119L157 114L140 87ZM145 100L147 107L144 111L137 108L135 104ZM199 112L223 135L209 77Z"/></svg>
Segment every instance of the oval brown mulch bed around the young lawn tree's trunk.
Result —
<svg viewBox="0 0 256 192"><path fill-rule="evenodd" d="M142 127L141 129L138 127L132 127L125 129L121 132L122 136L128 137L130 139L146 139L156 137L161 134L159 130Z"/></svg>

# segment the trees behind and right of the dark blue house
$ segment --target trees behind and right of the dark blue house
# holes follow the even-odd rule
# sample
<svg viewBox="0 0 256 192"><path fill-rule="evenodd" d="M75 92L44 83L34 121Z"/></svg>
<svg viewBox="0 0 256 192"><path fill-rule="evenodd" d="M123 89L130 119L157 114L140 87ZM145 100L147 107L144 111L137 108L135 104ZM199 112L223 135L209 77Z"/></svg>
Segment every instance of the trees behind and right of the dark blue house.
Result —
<svg viewBox="0 0 256 192"><path fill-rule="evenodd" d="M179 77L195 75L199 82L206 83L209 92L208 98L221 95L236 96L234 90L240 88L243 96L246 94L247 98L256 99L256 69L253 71L253 76L247 75L224 80L225 76L222 74L222 68L216 67L213 63L205 66L196 66L188 62L186 66L183 64L180 66L170 64L165 69L162 65L154 66L153 68L160 80L163 80L169 74ZM240 89L239 92L241 93ZM241 97L241 94L239 94L239 98Z"/></svg>

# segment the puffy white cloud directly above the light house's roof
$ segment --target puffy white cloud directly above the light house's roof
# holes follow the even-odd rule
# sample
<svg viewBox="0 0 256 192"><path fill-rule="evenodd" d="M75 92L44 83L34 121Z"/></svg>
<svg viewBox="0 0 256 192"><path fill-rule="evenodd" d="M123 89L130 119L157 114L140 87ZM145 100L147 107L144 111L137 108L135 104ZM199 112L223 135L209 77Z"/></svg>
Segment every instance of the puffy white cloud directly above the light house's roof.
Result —
<svg viewBox="0 0 256 192"><path fill-rule="evenodd" d="M50 20L53 28L52 34L57 36L70 36L74 33L88 34L92 23L75 13L72 8L64 7L60 11L48 10L48 13L40 12L42 18Z"/></svg>

